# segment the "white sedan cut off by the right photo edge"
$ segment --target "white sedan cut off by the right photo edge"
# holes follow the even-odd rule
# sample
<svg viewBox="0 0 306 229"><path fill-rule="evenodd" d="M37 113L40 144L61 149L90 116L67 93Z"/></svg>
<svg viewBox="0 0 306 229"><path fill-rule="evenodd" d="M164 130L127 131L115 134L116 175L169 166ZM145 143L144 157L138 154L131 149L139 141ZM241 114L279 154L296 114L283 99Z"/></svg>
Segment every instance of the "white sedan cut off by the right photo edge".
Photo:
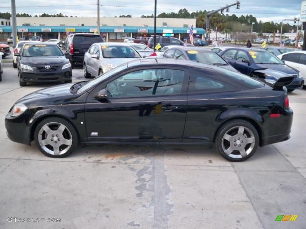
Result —
<svg viewBox="0 0 306 229"><path fill-rule="evenodd" d="M283 53L277 56L279 59L283 60L285 64L293 67L300 71L300 74L305 78L306 72L306 51L293 51L289 53ZM304 82L304 86L306 83Z"/></svg>

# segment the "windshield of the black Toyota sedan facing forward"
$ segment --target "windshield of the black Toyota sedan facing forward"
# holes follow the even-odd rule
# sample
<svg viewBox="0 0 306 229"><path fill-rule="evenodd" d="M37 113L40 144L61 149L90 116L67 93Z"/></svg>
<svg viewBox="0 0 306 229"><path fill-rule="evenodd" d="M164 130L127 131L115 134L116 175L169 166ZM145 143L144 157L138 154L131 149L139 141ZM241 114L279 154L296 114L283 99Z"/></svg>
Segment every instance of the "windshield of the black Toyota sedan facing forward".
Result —
<svg viewBox="0 0 306 229"><path fill-rule="evenodd" d="M22 56L64 56L57 45L24 45Z"/></svg>

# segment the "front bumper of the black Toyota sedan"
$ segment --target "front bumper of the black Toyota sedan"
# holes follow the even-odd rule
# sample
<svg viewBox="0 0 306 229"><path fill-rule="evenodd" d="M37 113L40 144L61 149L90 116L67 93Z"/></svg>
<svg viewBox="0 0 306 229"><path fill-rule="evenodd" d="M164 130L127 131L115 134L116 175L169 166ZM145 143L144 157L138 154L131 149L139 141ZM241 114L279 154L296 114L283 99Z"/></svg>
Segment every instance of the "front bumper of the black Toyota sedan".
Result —
<svg viewBox="0 0 306 229"><path fill-rule="evenodd" d="M54 72L41 72L36 69L33 71L21 70L22 82L62 82L72 79L71 68L57 70Z"/></svg>

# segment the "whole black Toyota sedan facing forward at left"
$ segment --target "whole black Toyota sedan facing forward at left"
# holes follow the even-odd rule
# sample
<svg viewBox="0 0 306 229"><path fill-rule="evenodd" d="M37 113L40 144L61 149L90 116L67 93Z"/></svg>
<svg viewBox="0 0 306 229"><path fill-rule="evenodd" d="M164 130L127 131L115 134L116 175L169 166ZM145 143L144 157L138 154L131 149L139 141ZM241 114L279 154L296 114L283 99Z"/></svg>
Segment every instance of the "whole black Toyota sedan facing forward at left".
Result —
<svg viewBox="0 0 306 229"><path fill-rule="evenodd" d="M26 43L14 55L20 86L27 82L72 82L71 64L55 44Z"/></svg>

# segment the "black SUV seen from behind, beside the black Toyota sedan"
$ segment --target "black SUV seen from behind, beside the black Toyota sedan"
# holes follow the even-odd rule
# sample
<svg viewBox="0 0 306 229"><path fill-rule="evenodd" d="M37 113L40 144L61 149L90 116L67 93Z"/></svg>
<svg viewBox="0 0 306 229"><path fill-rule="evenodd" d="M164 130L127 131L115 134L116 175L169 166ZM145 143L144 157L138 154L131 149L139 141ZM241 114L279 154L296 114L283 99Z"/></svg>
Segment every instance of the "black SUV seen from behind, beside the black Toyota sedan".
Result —
<svg viewBox="0 0 306 229"><path fill-rule="evenodd" d="M103 38L98 34L76 33L66 37L65 42L60 46L62 52L68 52L68 59L71 65L76 63L83 64L84 54L93 43L104 42Z"/></svg>

